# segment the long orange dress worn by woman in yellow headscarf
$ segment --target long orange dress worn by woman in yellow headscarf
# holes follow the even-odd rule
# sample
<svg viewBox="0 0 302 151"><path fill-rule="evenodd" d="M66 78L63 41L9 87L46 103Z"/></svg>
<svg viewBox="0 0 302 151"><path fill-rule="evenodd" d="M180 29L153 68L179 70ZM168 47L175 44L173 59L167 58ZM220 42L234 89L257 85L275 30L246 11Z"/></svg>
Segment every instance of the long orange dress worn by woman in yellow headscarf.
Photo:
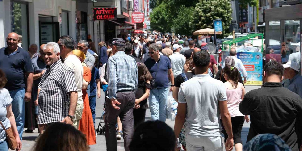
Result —
<svg viewBox="0 0 302 151"><path fill-rule="evenodd" d="M90 69L85 66L83 67L83 69L84 69L83 79L85 79L85 81L87 82L90 82L91 79ZM88 94L84 89L82 89L82 93L83 93L83 100L84 100L84 109L83 109L82 119L80 120L80 124L79 124L79 130L85 134L87 144L94 145L96 144L95 129L94 129L92 114L89 106Z"/></svg>

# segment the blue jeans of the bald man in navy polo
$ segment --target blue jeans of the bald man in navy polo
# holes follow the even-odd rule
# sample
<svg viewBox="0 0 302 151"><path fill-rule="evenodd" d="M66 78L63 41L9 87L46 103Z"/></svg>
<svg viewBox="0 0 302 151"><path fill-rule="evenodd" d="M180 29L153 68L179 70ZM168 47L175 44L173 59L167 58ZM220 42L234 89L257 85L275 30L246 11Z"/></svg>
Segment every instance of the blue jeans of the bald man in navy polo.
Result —
<svg viewBox="0 0 302 151"><path fill-rule="evenodd" d="M9 91L11 98L13 101L11 102L11 110L14 113L17 130L20 136L20 140L22 140L23 128L24 128L24 116L25 116L25 89L19 88L16 90Z"/></svg>

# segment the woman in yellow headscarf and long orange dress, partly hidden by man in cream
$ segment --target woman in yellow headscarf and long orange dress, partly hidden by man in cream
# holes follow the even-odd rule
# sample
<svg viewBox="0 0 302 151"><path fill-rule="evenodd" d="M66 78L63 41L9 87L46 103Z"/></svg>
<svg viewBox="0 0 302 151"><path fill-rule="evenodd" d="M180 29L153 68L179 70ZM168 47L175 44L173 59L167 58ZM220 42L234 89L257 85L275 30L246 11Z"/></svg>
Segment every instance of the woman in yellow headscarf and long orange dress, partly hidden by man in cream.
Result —
<svg viewBox="0 0 302 151"><path fill-rule="evenodd" d="M85 60L85 54L80 50L73 50L73 54L79 57L83 64L83 87L82 87L82 93L83 93L83 100L84 100L84 109L82 113L82 119L80 120L79 124L79 130L85 134L87 144L88 145L94 145L96 144L95 139L95 129L92 119L92 114L89 106L89 99L88 94L86 92L87 86L91 79L91 72L90 69L83 63L83 60Z"/></svg>

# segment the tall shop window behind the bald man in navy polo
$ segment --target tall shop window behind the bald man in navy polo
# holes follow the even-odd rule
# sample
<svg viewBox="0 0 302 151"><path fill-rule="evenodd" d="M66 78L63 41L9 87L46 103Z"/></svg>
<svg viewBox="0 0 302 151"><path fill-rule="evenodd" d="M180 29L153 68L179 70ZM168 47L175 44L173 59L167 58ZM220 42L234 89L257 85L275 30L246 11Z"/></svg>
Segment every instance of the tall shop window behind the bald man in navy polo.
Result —
<svg viewBox="0 0 302 151"><path fill-rule="evenodd" d="M11 2L11 32L19 35L21 46L24 50L28 50L28 33L27 33L27 5Z"/></svg>

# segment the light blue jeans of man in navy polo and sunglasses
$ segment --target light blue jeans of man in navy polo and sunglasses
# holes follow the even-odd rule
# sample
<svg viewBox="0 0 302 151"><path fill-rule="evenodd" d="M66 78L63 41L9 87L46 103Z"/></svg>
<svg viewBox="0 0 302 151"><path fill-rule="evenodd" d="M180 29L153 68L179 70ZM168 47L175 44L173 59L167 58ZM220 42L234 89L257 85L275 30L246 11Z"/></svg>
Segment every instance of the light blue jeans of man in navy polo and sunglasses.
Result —
<svg viewBox="0 0 302 151"><path fill-rule="evenodd" d="M149 106L152 120L166 121L168 93L168 87L150 90Z"/></svg>

